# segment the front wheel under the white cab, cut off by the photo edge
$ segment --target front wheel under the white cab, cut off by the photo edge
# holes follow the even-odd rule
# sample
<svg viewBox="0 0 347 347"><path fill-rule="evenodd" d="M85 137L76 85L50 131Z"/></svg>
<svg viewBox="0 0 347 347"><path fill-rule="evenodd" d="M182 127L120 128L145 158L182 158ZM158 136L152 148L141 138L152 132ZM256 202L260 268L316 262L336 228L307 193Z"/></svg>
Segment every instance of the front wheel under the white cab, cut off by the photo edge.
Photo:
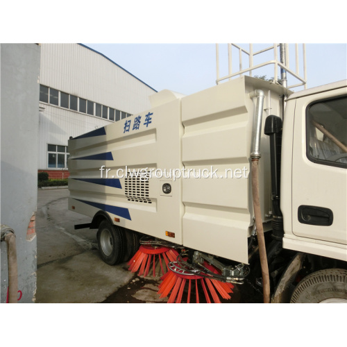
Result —
<svg viewBox="0 0 347 347"><path fill-rule="evenodd" d="M305 277L293 292L291 303L347 303L347 271L326 269Z"/></svg>

